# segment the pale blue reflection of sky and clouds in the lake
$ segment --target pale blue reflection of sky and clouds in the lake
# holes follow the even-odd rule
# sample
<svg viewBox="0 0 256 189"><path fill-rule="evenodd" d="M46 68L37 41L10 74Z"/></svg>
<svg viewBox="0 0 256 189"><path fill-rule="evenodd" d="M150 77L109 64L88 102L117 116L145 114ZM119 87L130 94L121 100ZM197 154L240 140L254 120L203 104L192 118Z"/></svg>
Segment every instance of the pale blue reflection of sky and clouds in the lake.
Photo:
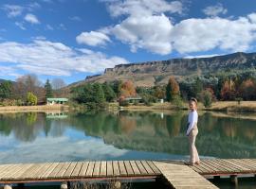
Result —
<svg viewBox="0 0 256 189"><path fill-rule="evenodd" d="M52 128L53 135L54 128ZM119 149L104 144L101 138L84 135L75 129L64 129L62 136L39 132L32 142L17 141L13 134L0 136L0 163L40 163L84 160L132 160L180 158L164 153Z"/></svg>

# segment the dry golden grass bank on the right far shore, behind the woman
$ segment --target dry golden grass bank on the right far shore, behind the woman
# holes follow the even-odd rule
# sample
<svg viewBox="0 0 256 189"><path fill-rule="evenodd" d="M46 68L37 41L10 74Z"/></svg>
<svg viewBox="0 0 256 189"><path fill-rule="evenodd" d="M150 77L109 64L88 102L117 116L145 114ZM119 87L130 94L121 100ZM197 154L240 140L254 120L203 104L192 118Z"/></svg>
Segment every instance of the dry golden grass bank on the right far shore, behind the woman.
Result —
<svg viewBox="0 0 256 189"><path fill-rule="evenodd" d="M111 106L114 106L112 103ZM117 104L118 106L118 104ZM188 104L183 103L180 107L172 103L153 103L152 106L145 105L130 105L128 107L121 107L123 110L187 110ZM198 103L198 110L200 111L216 111L216 112L256 112L256 101L217 101L212 103L210 108L205 108L202 103Z"/></svg>

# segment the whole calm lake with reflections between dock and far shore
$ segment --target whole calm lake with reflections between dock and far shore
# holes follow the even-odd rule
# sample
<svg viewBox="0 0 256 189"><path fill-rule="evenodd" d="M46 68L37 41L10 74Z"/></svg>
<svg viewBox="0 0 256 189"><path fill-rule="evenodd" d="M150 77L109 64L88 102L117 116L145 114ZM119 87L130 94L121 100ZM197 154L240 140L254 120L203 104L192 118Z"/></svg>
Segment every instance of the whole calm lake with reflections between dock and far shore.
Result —
<svg viewBox="0 0 256 189"><path fill-rule="evenodd" d="M187 113L2 113L0 163L188 159ZM256 158L255 117L199 112L199 155Z"/></svg>

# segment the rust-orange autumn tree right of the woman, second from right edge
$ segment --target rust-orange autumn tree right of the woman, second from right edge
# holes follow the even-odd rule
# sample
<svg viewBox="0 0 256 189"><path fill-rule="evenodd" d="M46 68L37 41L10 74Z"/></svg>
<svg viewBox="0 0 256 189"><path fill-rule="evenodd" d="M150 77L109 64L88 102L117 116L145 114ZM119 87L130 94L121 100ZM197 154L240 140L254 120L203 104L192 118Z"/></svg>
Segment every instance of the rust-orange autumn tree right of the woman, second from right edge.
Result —
<svg viewBox="0 0 256 189"><path fill-rule="evenodd" d="M235 90L235 83L230 78L223 83L221 89L221 97L223 100L233 100L235 99L236 90Z"/></svg>

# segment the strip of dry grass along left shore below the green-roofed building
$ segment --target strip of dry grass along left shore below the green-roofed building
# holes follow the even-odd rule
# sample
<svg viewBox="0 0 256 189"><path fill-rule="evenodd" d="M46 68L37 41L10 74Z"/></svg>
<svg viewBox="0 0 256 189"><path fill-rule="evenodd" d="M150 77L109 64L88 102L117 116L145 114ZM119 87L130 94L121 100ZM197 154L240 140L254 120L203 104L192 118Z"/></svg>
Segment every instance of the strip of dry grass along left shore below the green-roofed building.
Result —
<svg viewBox="0 0 256 189"><path fill-rule="evenodd" d="M0 107L0 112L48 112L48 111L65 111L68 110L66 105L41 105L41 106L6 106Z"/></svg>

